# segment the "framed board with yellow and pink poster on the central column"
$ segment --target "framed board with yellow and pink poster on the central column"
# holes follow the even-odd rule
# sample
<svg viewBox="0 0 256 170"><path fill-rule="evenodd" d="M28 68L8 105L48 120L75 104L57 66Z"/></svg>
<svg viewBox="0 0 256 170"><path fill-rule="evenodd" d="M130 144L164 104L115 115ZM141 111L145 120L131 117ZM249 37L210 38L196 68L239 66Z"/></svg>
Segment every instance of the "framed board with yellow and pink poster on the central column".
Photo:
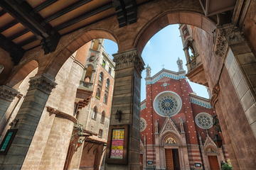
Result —
<svg viewBox="0 0 256 170"><path fill-rule="evenodd" d="M127 164L128 126L110 126L107 138L107 164Z"/></svg>

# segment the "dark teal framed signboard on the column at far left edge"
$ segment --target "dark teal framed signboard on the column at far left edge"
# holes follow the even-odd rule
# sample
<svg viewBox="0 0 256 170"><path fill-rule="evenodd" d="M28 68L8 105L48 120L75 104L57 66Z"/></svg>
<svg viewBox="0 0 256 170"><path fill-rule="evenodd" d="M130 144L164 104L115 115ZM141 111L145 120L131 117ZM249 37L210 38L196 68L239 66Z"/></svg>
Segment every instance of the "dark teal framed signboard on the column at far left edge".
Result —
<svg viewBox="0 0 256 170"><path fill-rule="evenodd" d="M4 136L0 145L0 154L7 154L9 147L11 147L11 142L14 140L17 129L9 129Z"/></svg>

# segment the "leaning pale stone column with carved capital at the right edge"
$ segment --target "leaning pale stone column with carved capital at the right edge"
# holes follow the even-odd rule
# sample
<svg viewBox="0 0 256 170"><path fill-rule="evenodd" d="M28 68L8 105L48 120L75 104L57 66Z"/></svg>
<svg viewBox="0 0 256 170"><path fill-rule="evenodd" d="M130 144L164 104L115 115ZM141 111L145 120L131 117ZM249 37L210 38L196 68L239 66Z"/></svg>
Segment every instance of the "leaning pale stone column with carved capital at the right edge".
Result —
<svg viewBox="0 0 256 170"><path fill-rule="evenodd" d="M214 48L215 54L223 57L235 92L238 94L256 139L256 56L242 31L231 23L218 26Z"/></svg>

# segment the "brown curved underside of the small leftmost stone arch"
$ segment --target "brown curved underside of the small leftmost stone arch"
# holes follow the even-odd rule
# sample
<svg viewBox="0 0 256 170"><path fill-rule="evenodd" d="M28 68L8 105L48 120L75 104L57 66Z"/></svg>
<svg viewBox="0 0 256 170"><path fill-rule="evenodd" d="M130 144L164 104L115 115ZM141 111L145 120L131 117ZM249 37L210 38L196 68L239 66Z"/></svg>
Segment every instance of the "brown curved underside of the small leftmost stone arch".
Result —
<svg viewBox="0 0 256 170"><path fill-rule="evenodd" d="M23 81L23 79L25 79L28 74L30 74L37 67L38 62L36 60L31 60L25 64L18 65L6 84L11 87L15 86L18 84L18 82Z"/></svg>

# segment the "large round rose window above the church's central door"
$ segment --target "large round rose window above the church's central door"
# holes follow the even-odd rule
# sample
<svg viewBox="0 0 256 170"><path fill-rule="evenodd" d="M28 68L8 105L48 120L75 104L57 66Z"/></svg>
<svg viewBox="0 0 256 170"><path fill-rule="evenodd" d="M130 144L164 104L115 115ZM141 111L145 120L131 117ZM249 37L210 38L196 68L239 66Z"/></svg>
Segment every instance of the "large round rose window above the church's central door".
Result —
<svg viewBox="0 0 256 170"><path fill-rule="evenodd" d="M172 91L164 91L154 100L154 110L161 116L173 116L181 110L181 98Z"/></svg>

